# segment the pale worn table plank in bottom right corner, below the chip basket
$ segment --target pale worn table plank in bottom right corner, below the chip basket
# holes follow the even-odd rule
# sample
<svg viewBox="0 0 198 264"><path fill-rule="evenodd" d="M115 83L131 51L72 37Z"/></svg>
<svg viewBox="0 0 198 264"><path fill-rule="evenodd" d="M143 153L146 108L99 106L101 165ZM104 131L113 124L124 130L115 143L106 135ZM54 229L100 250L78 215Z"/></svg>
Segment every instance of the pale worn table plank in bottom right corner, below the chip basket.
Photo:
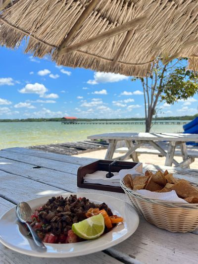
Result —
<svg viewBox="0 0 198 264"><path fill-rule="evenodd" d="M135 234L113 247L147 264L197 264L198 236L192 233L171 233L141 218Z"/></svg>

